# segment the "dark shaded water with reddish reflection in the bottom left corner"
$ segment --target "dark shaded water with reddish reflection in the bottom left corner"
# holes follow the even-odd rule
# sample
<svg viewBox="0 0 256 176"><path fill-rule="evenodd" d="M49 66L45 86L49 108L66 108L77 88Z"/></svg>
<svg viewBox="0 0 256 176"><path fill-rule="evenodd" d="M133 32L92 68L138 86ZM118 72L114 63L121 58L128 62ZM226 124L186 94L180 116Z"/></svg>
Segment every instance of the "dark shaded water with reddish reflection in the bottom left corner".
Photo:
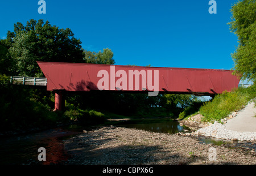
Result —
<svg viewBox="0 0 256 176"><path fill-rule="evenodd" d="M68 159L63 140L78 134L61 128L0 139L0 164L59 164ZM46 148L46 161L38 161L38 148Z"/></svg>

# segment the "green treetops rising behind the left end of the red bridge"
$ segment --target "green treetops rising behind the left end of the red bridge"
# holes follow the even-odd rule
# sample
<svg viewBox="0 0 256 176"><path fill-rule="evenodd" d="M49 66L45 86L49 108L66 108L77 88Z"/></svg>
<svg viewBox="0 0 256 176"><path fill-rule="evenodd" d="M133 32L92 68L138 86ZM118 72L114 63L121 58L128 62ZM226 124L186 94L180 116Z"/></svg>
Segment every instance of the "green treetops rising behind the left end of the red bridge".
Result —
<svg viewBox="0 0 256 176"><path fill-rule="evenodd" d="M1 40L0 67L8 66L3 72L12 75L42 77L36 61L114 64L111 49L84 50L69 28L60 29L43 20L31 19L26 25L17 22L14 32L8 31L6 40Z"/></svg>

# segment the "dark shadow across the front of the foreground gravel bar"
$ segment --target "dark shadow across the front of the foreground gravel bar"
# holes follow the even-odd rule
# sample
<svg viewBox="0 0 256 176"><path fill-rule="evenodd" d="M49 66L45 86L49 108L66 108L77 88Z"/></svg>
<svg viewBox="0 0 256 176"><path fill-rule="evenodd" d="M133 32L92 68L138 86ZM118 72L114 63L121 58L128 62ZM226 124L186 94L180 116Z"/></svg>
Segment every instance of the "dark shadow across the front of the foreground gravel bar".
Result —
<svg viewBox="0 0 256 176"><path fill-rule="evenodd" d="M129 165L158 164L168 160L170 164L186 164L187 158L179 153L163 152L159 146L121 145L109 148L82 147L69 149L72 159L65 164Z"/></svg>

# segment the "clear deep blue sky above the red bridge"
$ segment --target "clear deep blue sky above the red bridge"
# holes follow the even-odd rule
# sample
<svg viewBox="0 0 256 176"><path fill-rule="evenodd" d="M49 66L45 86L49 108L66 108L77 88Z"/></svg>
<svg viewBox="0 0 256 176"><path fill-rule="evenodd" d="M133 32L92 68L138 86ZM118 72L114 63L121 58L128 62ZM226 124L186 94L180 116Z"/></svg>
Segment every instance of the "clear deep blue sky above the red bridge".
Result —
<svg viewBox="0 0 256 176"><path fill-rule="evenodd" d="M71 28L84 49L110 48L115 65L233 67L238 43L227 23L235 0L216 0L217 14L209 14L209 0L45 1L46 14L38 13L38 0L1 1L0 37L16 22L44 19Z"/></svg>

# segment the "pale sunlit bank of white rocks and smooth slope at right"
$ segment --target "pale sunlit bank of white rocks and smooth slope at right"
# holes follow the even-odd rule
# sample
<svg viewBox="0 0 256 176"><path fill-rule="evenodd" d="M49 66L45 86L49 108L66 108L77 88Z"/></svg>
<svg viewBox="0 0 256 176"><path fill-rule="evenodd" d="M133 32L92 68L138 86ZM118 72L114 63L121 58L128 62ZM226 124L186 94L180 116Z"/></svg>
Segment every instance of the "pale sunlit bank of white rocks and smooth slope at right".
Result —
<svg viewBox="0 0 256 176"><path fill-rule="evenodd" d="M193 130L191 133L181 135L207 136L217 139L255 141L256 140L256 108L254 102L249 102L240 111L229 114L222 119L222 123L203 122L203 115L197 114L183 121L180 125L186 125Z"/></svg>

